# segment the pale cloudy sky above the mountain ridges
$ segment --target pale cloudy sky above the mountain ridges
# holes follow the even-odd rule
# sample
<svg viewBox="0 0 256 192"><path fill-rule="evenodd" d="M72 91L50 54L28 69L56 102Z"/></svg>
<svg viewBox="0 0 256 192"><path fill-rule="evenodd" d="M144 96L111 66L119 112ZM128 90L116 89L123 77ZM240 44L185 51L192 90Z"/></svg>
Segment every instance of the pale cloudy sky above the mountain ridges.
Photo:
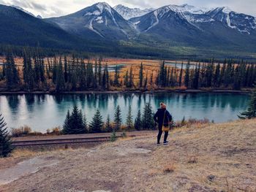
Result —
<svg viewBox="0 0 256 192"><path fill-rule="evenodd" d="M100 0L99 0L100 1ZM230 7L236 12L256 16L256 0L105 0L111 6L123 4L128 7L157 8L167 4L191 4L196 7ZM95 0L0 0L0 4L22 7L34 15L43 18L67 15L91 4Z"/></svg>

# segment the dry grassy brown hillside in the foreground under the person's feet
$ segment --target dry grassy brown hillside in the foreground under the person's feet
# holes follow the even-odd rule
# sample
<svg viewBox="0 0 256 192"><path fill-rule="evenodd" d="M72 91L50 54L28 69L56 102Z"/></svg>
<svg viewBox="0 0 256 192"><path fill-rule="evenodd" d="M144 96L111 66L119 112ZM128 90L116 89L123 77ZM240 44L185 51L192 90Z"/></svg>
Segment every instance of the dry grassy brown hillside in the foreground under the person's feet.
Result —
<svg viewBox="0 0 256 192"><path fill-rule="evenodd" d="M156 145L156 134L15 152L0 159L0 173L10 176L1 185L0 174L0 191L256 191L256 120L176 129L167 146Z"/></svg>

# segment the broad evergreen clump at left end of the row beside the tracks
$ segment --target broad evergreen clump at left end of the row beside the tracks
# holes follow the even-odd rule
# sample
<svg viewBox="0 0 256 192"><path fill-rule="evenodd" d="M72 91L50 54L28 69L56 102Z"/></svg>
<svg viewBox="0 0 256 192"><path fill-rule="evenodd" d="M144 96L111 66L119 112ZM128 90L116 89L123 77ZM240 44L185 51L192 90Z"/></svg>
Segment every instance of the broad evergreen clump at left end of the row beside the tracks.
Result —
<svg viewBox="0 0 256 192"><path fill-rule="evenodd" d="M77 106L73 107L72 114L67 112L67 117L63 126L64 134L85 134L86 122L84 122L83 113L78 110Z"/></svg>

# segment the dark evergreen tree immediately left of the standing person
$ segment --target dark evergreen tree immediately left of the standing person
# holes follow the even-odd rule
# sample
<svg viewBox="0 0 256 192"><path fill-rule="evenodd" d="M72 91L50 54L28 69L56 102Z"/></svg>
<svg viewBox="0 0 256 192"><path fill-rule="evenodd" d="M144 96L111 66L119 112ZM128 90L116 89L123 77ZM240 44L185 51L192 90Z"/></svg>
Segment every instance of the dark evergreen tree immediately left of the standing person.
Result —
<svg viewBox="0 0 256 192"><path fill-rule="evenodd" d="M153 111L150 103L144 107L142 127L145 129L154 129Z"/></svg>

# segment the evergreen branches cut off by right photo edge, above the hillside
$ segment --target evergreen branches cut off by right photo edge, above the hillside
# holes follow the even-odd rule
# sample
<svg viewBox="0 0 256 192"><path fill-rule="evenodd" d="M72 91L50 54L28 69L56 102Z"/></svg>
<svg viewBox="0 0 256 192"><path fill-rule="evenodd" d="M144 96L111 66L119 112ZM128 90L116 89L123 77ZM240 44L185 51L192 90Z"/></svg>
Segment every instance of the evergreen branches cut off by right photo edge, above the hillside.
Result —
<svg viewBox="0 0 256 192"><path fill-rule="evenodd" d="M248 109L245 112L241 112L240 115L238 115L238 118L241 119L252 119L256 118L256 88L252 92L251 100L248 104Z"/></svg>

